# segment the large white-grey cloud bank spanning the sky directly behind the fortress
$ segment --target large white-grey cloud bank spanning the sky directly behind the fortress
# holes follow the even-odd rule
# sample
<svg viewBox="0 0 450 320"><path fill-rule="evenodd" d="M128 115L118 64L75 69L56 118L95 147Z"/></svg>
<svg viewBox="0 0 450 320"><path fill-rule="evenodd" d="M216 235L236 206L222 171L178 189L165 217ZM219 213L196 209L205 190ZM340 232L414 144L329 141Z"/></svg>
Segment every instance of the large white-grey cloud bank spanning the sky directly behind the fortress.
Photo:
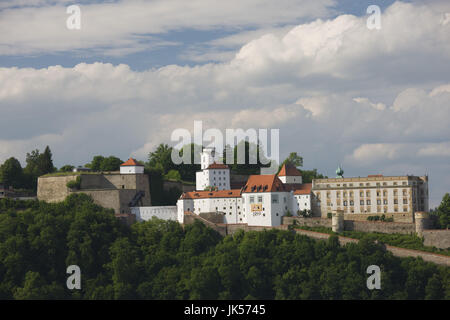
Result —
<svg viewBox="0 0 450 320"><path fill-rule="evenodd" d="M280 128L282 153L297 151L306 167L329 175L340 162L351 175L430 170L438 198L450 188L443 178L449 169L450 25L442 16L396 3L383 14L380 31L349 15L317 20L260 36L230 61L202 66L0 68L0 161L23 159L46 144L57 165L84 164L96 154L145 160L169 142L172 130L203 120L205 129ZM126 39L121 32L117 37ZM54 45L53 37L48 40L36 48ZM1 41L20 49L15 40ZM127 46L119 41L117 49Z"/></svg>

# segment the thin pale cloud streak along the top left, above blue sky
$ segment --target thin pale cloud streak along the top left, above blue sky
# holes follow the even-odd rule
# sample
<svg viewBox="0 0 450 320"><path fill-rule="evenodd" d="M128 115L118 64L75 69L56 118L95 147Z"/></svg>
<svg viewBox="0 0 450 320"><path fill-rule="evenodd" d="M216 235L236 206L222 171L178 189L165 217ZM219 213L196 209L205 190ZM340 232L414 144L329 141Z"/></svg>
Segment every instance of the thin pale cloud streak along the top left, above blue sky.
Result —
<svg viewBox="0 0 450 320"><path fill-rule="evenodd" d="M237 29L327 16L333 0L122 0L80 3L81 30L68 30L68 1L0 6L0 55L102 48L127 54L164 45L154 35L183 28ZM73 4L73 3L70 3ZM248 14L251 12L251 14ZM151 36L153 35L153 36Z"/></svg>

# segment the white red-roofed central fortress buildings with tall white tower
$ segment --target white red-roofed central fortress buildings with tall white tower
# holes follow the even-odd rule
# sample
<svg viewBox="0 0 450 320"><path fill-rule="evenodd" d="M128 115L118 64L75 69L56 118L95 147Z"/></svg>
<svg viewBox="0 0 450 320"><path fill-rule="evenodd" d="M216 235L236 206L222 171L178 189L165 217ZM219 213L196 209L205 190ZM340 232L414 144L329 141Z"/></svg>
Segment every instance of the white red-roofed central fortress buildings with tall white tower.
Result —
<svg viewBox="0 0 450 320"><path fill-rule="evenodd" d="M215 162L213 149L201 154L196 191L185 192L177 202L178 221L186 213L222 214L224 223L278 226L282 217L311 212L311 184L302 184L301 172L283 165L278 175L252 175L242 189L230 189L230 169Z"/></svg>

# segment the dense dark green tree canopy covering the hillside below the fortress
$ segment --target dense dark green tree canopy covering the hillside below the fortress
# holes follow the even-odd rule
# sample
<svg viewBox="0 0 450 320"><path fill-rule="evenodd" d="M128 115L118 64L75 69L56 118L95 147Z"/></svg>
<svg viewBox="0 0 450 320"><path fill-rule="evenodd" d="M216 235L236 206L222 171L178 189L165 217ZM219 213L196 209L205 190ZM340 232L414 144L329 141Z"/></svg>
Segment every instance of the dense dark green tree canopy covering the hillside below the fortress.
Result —
<svg viewBox="0 0 450 320"><path fill-rule="evenodd" d="M67 266L81 290L66 288ZM369 265L381 290L366 287ZM2 299L449 299L450 269L362 240L340 247L289 231L221 237L197 222L122 225L82 194L0 201Z"/></svg>

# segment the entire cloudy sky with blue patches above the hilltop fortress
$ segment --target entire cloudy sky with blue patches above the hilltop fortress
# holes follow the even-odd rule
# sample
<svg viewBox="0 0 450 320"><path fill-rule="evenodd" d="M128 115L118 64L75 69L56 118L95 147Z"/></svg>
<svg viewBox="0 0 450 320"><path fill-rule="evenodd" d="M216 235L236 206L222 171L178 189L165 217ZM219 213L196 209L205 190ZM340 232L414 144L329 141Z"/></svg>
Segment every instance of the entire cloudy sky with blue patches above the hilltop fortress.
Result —
<svg viewBox="0 0 450 320"><path fill-rule="evenodd" d="M81 29L69 30L69 5ZM369 5L381 29L367 28ZM146 160L176 128L279 128L328 176L450 191L450 3L2 0L0 162Z"/></svg>

